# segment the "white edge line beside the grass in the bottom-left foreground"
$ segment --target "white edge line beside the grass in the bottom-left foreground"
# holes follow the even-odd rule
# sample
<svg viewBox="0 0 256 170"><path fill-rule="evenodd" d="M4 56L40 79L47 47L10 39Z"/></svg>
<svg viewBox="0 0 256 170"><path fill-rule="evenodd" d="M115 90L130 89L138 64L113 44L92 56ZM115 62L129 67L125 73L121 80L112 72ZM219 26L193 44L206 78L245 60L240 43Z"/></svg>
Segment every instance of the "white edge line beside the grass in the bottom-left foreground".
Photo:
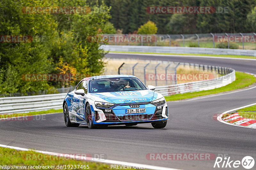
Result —
<svg viewBox="0 0 256 170"><path fill-rule="evenodd" d="M21 150L21 151L31 151L32 150L32 149L27 149L27 148L20 148L20 147L1 145L1 144L0 144L0 147L11 148L11 149L16 149L16 150ZM48 154L48 155L61 155L62 154L62 155L65 155L65 158L73 158L71 154L66 154L66 153L47 152L47 151L39 151L39 150L32 150L32 151L43 153L43 154ZM98 160L98 158L92 158L92 157L86 157L86 158L83 156L77 156L78 160L93 161L93 162L100 162L100 163L106 163L106 164L128 165L128 166L132 166L132 167L136 166L136 167L143 167L146 169L155 169L155 170L180 170L180 169L174 169L174 168L168 168L168 167L162 167L162 166L145 165L145 164L124 162L124 161L118 161L118 160L109 160L109 159Z"/></svg>

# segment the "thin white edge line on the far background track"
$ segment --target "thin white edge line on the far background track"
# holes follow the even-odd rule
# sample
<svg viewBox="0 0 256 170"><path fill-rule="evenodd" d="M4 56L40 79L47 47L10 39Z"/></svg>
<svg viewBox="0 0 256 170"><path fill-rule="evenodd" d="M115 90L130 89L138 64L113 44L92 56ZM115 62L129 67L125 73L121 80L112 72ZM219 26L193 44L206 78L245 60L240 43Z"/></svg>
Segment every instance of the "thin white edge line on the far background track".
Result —
<svg viewBox="0 0 256 170"><path fill-rule="evenodd" d="M253 60L248 58L236 58L236 57L216 57L216 56L203 56L203 55L178 55L178 54L144 54L144 53L115 53L109 52L109 54L125 54L125 55L150 55L150 56L167 56L167 57L195 57L195 58L212 58L212 59L230 59L230 60Z"/></svg>

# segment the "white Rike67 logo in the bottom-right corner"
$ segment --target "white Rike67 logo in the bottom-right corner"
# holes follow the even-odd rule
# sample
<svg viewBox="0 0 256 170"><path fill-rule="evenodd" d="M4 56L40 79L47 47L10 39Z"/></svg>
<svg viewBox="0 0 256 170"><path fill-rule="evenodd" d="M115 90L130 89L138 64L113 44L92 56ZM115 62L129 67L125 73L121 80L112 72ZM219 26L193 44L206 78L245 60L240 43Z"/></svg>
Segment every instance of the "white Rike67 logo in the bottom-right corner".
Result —
<svg viewBox="0 0 256 170"><path fill-rule="evenodd" d="M217 157L214 163L214 168L238 168L241 167L241 165L245 169L251 169L254 166L254 159L251 156L245 156L242 161L240 160L230 160L230 157Z"/></svg>

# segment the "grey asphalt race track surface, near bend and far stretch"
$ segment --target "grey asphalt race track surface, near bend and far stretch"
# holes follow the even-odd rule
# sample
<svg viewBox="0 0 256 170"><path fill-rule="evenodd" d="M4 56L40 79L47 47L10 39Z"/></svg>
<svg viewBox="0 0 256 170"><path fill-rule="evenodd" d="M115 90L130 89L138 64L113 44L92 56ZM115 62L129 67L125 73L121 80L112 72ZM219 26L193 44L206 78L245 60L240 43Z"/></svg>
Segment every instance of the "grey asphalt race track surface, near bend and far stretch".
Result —
<svg viewBox="0 0 256 170"><path fill-rule="evenodd" d="M256 74L256 61L196 57L107 54L107 58L170 60L232 67ZM0 144L59 153L105 153L107 159L178 169L213 168L213 160L148 160L148 153L228 154L230 160L256 159L256 130L231 126L213 119L216 114L256 102L256 88L204 99L168 102L169 120L164 129L151 124L88 129L65 126L63 114L43 120L0 121ZM222 165L222 163L220 164ZM255 167L256 165L254 165ZM234 168L228 168L234 169ZM236 169L244 169L239 166Z"/></svg>

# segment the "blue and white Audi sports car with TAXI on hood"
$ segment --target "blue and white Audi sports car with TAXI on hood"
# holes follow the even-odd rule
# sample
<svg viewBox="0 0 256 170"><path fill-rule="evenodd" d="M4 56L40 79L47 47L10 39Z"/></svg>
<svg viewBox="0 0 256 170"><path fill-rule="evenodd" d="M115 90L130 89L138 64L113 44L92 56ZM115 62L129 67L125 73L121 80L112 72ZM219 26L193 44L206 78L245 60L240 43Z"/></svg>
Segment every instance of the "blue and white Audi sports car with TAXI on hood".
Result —
<svg viewBox="0 0 256 170"><path fill-rule="evenodd" d="M87 77L69 92L63 102L66 126L99 126L151 123L154 128L167 124L164 96L133 75Z"/></svg>

